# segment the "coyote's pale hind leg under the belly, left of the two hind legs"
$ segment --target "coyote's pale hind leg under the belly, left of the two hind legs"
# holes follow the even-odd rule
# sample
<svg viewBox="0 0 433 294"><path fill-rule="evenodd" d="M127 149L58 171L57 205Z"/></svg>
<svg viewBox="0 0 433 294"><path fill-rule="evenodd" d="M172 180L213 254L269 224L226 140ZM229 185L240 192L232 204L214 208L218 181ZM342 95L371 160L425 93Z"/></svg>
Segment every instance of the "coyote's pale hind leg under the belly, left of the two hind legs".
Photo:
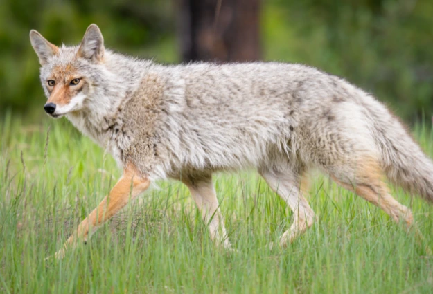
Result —
<svg viewBox="0 0 433 294"><path fill-rule="evenodd" d="M293 211L293 223L290 228L281 235L280 246L285 246L292 242L296 237L312 226L315 221L315 213L308 205L308 201L303 197L301 189L301 173L292 169L279 172L272 169L260 169L260 175L266 183L281 199L287 203ZM305 179L304 179L305 180Z"/></svg>

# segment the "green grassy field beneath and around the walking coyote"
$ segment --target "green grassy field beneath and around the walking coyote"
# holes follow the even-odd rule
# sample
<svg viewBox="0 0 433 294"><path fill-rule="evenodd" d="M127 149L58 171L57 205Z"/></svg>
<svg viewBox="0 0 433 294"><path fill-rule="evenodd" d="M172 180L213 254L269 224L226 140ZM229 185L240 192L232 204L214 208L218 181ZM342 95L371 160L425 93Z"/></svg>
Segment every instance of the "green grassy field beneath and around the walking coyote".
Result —
<svg viewBox="0 0 433 294"><path fill-rule="evenodd" d="M49 129L49 131L48 131ZM161 182L61 261L45 261L120 172L69 123L0 122L0 293L432 293L433 206L412 206L417 241L373 205L317 176L319 222L269 250L291 212L254 172L214 181L235 252L216 248L182 185ZM433 156L429 127L414 136Z"/></svg>

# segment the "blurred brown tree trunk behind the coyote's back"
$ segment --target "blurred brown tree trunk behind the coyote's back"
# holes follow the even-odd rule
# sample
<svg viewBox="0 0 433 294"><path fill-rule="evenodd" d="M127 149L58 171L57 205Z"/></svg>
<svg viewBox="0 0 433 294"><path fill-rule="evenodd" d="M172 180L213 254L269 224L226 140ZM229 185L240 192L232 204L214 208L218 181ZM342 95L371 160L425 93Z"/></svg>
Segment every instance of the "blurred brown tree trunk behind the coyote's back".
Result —
<svg viewBox="0 0 433 294"><path fill-rule="evenodd" d="M178 0L182 59L260 59L260 0Z"/></svg>

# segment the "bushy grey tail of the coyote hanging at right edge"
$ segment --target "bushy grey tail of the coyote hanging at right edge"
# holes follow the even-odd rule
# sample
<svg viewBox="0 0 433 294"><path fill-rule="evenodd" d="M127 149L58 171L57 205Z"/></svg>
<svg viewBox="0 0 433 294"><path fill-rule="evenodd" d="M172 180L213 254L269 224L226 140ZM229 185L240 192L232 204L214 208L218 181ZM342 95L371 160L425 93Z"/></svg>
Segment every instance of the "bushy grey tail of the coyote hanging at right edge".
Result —
<svg viewBox="0 0 433 294"><path fill-rule="evenodd" d="M373 129L385 174L395 185L433 202L432 160L425 156L398 118L388 112L377 114Z"/></svg>

